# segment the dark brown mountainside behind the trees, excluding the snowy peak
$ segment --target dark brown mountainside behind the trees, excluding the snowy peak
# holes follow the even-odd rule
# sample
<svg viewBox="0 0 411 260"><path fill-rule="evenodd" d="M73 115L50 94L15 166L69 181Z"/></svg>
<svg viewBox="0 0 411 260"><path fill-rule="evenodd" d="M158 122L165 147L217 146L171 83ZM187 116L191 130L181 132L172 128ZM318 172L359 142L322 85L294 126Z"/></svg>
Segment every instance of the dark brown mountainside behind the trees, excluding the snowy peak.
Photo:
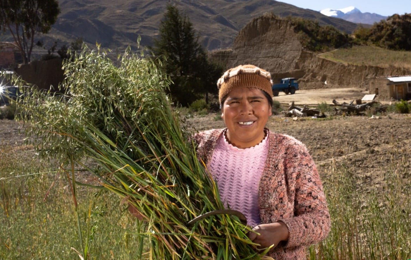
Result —
<svg viewBox="0 0 411 260"><path fill-rule="evenodd" d="M200 41L208 50L231 48L238 32L253 18L272 12L277 16L315 19L351 33L357 24L329 17L274 0L58 0L61 13L48 34L40 40L46 50L58 39L58 48L78 37L95 46L123 52L127 46L150 46L159 34L160 21L168 3L187 14ZM0 41L10 41L0 35ZM35 39L39 40L38 38ZM44 50L45 51L45 50Z"/></svg>

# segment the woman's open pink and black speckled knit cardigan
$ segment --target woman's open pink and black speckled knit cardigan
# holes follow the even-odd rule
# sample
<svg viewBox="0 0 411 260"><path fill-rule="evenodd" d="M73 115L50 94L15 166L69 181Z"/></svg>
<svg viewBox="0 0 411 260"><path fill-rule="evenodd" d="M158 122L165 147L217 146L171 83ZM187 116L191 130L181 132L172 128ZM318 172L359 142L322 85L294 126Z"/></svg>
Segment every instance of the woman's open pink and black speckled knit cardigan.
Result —
<svg viewBox="0 0 411 260"><path fill-rule="evenodd" d="M197 154L208 165L224 129L194 136ZM324 239L330 231L330 214L323 186L307 148L297 139L269 132L269 150L259 183L261 222L282 221L289 240L269 255L275 260L306 259L306 246Z"/></svg>

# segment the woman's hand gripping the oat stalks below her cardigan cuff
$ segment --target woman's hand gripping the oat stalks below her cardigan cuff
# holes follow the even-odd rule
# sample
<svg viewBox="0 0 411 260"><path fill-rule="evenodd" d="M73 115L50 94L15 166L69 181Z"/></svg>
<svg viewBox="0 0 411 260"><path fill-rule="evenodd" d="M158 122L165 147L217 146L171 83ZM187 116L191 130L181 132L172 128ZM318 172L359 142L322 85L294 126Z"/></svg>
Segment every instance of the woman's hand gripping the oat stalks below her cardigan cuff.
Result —
<svg viewBox="0 0 411 260"><path fill-rule="evenodd" d="M269 224L260 224L255 226L253 230L256 233L249 232L248 237L252 242L260 244L260 249L267 248L271 245L273 245L272 248L275 248L279 242L287 241L289 237L288 228L282 221Z"/></svg>

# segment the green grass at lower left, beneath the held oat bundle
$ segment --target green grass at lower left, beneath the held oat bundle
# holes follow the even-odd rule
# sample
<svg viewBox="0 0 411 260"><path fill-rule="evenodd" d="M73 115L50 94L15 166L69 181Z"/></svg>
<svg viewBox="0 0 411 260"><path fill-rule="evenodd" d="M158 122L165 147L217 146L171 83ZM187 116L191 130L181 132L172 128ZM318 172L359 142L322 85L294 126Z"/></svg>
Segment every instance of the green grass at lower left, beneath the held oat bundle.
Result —
<svg viewBox="0 0 411 260"><path fill-rule="evenodd" d="M56 176L56 164L31 160L29 149L0 145L0 259L81 259L68 182ZM119 198L89 188L78 189L78 198L88 259L134 259L138 227Z"/></svg>

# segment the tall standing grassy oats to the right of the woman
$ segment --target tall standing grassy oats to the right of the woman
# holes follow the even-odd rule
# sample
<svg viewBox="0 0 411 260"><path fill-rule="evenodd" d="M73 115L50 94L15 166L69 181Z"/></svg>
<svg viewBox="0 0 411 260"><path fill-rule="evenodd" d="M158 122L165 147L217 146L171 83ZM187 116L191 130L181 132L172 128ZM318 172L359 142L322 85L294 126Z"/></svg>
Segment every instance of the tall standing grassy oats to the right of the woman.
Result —
<svg viewBox="0 0 411 260"><path fill-rule="evenodd" d="M347 161L330 166L324 190L331 231L310 247L310 260L411 259L409 147L400 146L386 151L388 170L381 169L385 174L379 189L359 185L363 176Z"/></svg>

